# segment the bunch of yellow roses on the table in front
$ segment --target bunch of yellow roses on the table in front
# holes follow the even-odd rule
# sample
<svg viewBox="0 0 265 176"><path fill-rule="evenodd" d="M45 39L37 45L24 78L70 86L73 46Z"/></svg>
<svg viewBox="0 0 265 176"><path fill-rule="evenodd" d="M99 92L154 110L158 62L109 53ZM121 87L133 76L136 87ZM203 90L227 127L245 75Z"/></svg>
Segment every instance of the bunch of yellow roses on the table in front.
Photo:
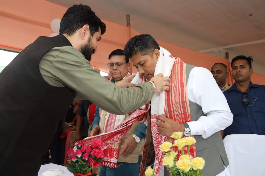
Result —
<svg viewBox="0 0 265 176"><path fill-rule="evenodd" d="M182 132L174 132L171 137L175 139L174 144L171 142L164 142L159 147L161 151L165 151L165 156L163 161L163 166L166 166L169 170L170 176L201 176L202 170L205 165L203 158L196 157L193 158L190 154L190 146L196 143L195 138L189 136L182 138ZM188 146L188 155L184 155L184 146ZM172 146L178 147L181 150L182 155L179 160L176 159L178 152L170 151ZM145 176L156 176L151 167L148 167L145 171Z"/></svg>

